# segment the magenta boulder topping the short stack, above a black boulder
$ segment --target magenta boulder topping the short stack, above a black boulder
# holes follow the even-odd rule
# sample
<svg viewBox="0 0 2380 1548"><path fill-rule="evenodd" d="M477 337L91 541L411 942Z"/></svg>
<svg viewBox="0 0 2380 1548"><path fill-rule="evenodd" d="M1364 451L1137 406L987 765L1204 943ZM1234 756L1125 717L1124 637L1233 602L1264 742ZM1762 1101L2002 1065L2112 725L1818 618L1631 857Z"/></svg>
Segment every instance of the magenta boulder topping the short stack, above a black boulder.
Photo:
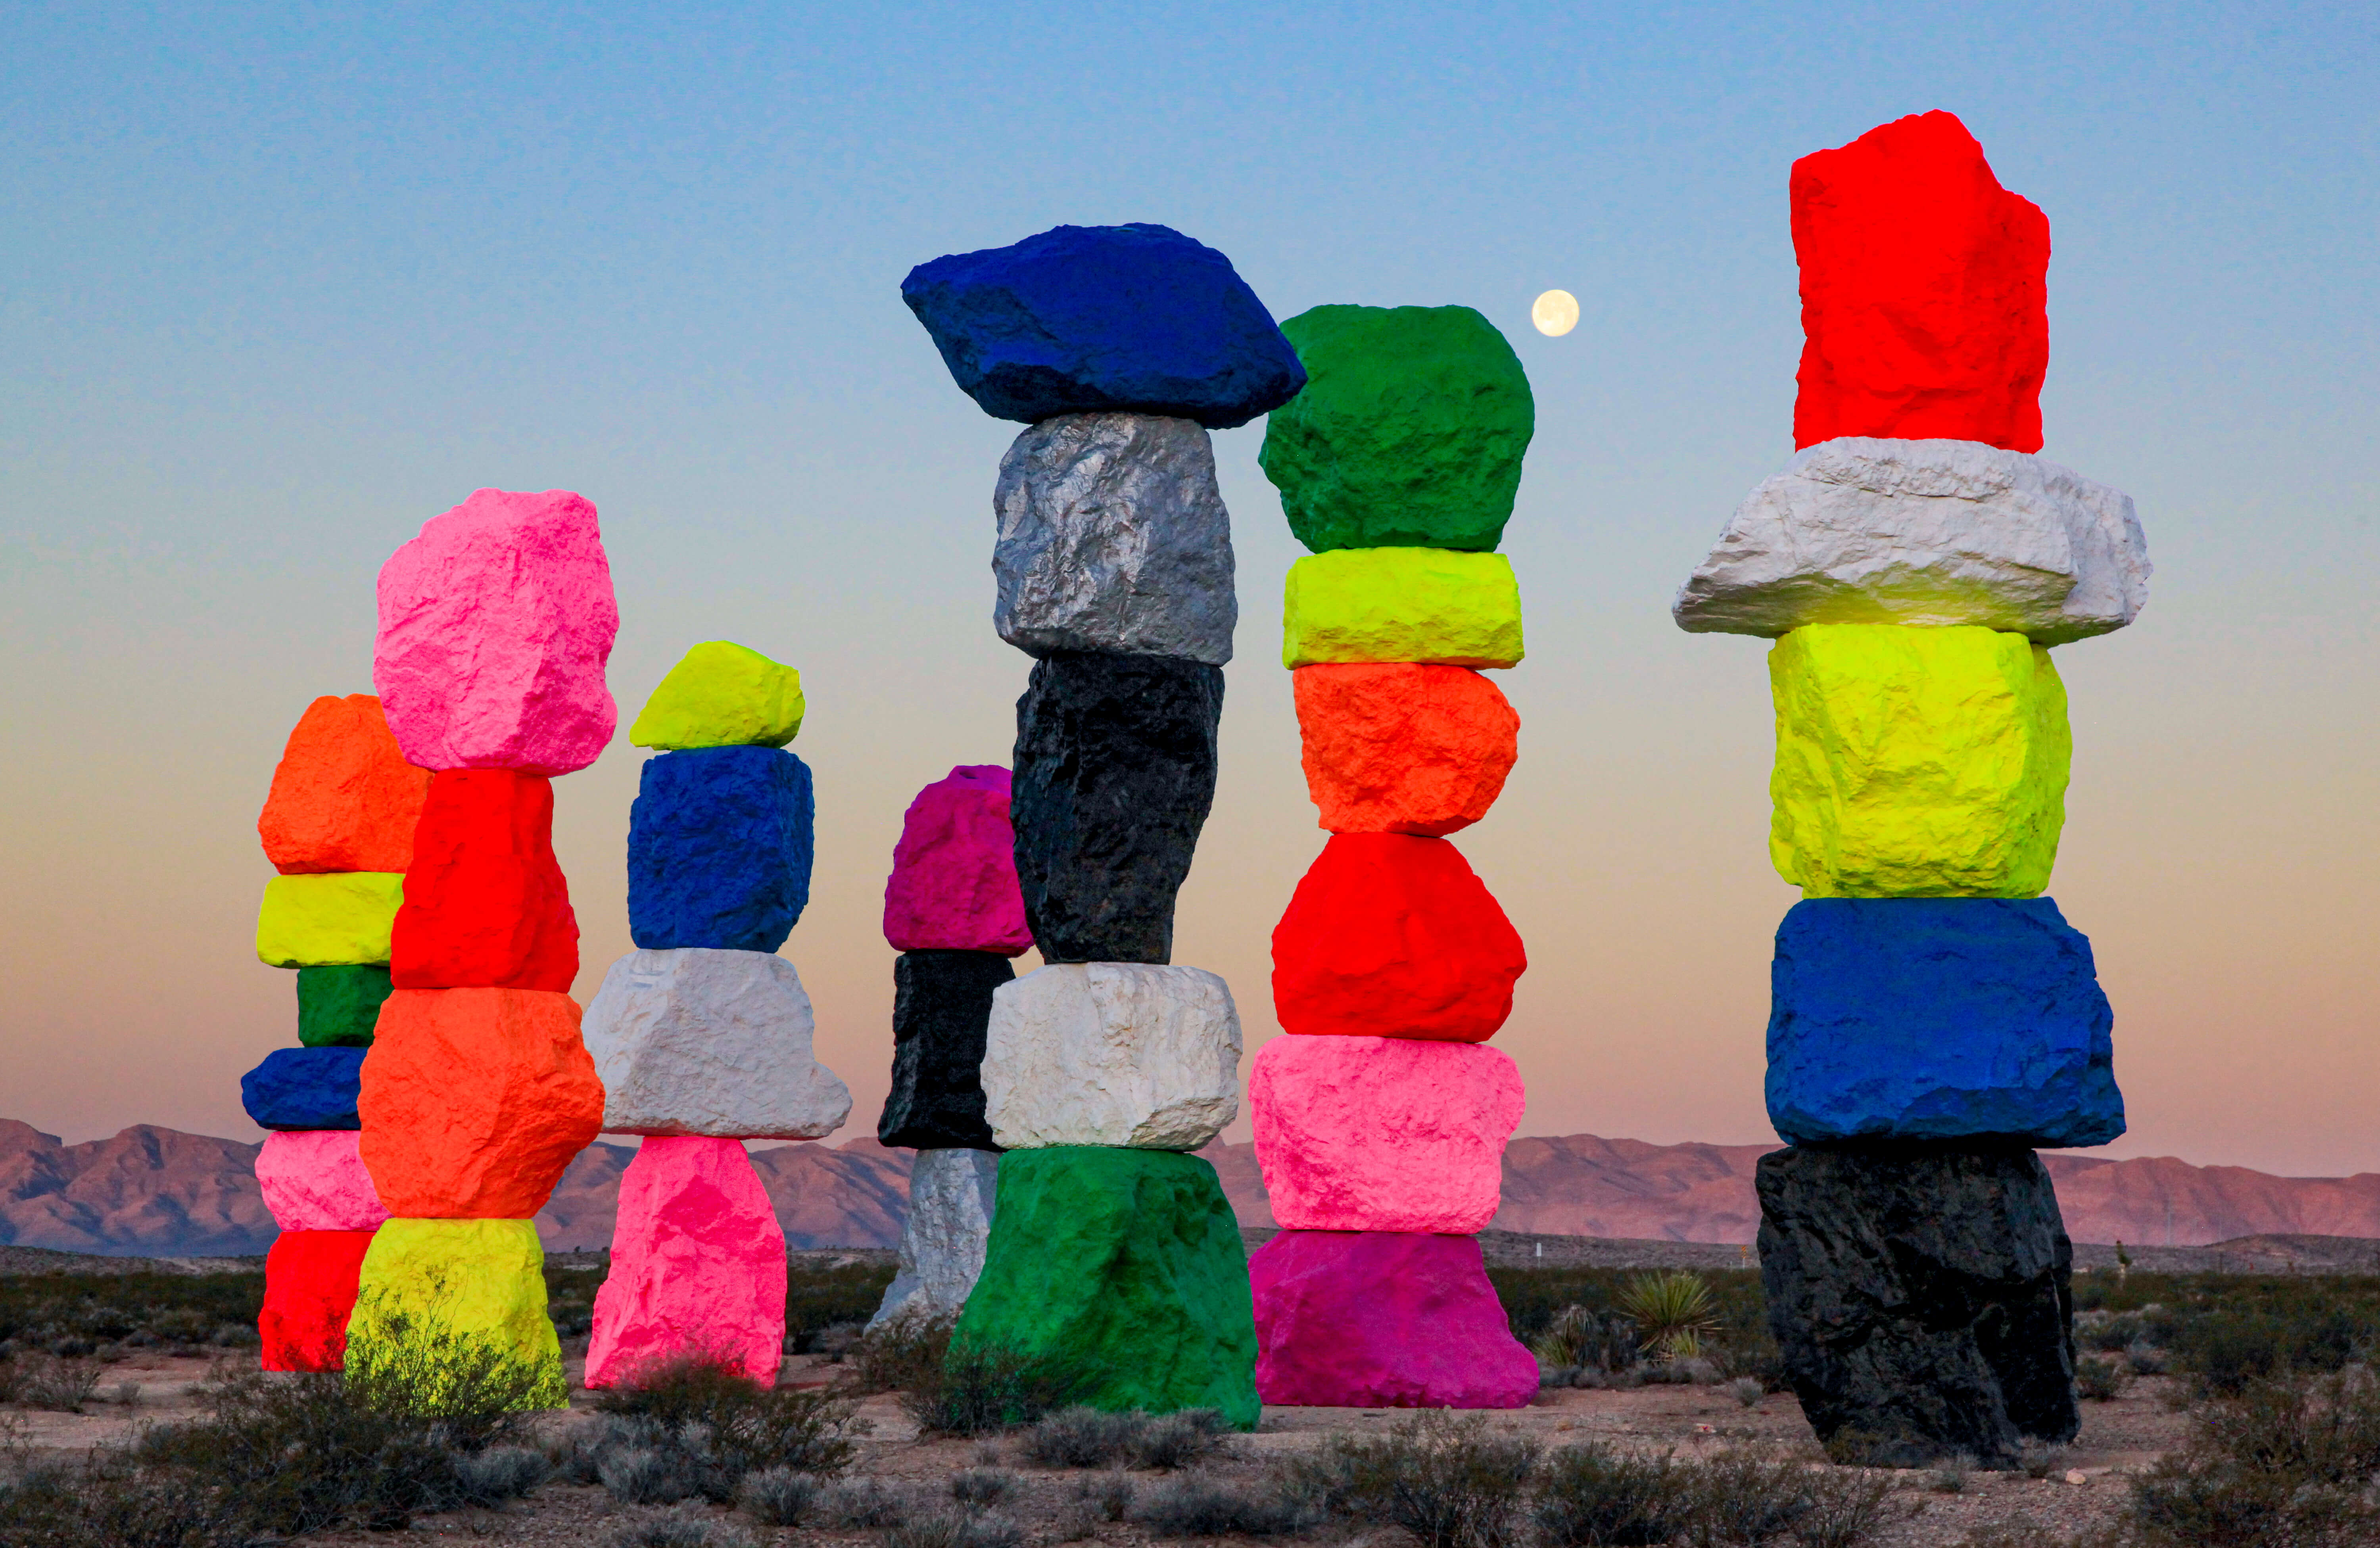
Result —
<svg viewBox="0 0 2380 1548"><path fill-rule="evenodd" d="M885 881L885 941L892 950L1002 957L1033 945L1026 898L1016 891L1007 769L959 764L909 803Z"/></svg>

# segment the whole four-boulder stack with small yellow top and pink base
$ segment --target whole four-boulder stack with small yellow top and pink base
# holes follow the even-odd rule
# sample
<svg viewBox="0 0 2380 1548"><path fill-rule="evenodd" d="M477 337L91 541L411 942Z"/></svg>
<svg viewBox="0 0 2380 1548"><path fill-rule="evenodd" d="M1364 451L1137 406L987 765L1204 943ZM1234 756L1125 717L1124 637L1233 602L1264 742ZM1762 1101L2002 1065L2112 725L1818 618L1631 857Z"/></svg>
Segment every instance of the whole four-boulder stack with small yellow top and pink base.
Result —
<svg viewBox="0 0 2380 1548"><path fill-rule="evenodd" d="M588 1386L685 1357L774 1381L785 1231L747 1138L819 1138L852 1093L812 1055L816 1022L776 948L809 903L802 674L695 645L628 726L652 748L628 810L628 936L588 1005L605 1134L645 1143L621 1179L595 1293Z"/></svg>

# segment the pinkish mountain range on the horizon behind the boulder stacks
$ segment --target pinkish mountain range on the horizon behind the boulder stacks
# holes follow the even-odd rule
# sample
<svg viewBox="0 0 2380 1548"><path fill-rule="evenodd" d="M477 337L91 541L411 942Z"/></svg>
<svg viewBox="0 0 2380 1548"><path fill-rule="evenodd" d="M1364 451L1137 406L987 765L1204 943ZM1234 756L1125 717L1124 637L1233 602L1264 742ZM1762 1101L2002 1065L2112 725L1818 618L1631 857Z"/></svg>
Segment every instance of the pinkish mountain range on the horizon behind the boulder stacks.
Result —
<svg viewBox="0 0 2380 1548"><path fill-rule="evenodd" d="M1752 1167L1775 1146L1649 1146L1566 1134L1504 1153L1495 1226L1549 1236L1747 1243L1759 1229ZM631 1146L588 1146L538 1215L550 1248L605 1248ZM1240 1212L1269 1226L1254 1146L1209 1146ZM83 1146L0 1119L0 1246L109 1255L245 1255L274 1238L257 1193L257 1146L136 1124ZM2173 1157L2049 1155L2075 1241L2206 1246L2237 1236L2380 1238L2380 1174L2273 1176ZM871 1138L752 1155L785 1241L890 1248L909 1203L909 1153Z"/></svg>

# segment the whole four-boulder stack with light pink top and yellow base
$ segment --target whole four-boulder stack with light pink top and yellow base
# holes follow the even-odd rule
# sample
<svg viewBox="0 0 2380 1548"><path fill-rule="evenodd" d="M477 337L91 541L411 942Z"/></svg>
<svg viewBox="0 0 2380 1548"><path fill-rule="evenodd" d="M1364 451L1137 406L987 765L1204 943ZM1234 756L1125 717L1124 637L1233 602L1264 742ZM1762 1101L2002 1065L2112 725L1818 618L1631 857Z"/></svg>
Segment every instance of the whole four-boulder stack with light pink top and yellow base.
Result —
<svg viewBox="0 0 2380 1548"><path fill-rule="evenodd" d="M483 488L397 548L378 593L371 679L431 784L362 1069L362 1160L390 1219L364 1253L347 1360L495 1346L562 1405L531 1217L595 1138L602 1084L569 995L578 919L552 779L612 741L612 567L581 495Z"/></svg>

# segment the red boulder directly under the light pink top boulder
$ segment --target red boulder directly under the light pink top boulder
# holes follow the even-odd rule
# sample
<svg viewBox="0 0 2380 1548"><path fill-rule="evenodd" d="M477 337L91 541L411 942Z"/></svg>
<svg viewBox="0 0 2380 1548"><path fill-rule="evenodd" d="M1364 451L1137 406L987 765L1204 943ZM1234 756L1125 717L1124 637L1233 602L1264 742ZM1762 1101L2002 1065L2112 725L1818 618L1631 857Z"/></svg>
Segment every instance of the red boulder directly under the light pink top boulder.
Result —
<svg viewBox="0 0 2380 1548"><path fill-rule="evenodd" d="M578 976L578 917L555 860L555 786L519 769L431 779L405 905L397 988L555 988Z"/></svg>

